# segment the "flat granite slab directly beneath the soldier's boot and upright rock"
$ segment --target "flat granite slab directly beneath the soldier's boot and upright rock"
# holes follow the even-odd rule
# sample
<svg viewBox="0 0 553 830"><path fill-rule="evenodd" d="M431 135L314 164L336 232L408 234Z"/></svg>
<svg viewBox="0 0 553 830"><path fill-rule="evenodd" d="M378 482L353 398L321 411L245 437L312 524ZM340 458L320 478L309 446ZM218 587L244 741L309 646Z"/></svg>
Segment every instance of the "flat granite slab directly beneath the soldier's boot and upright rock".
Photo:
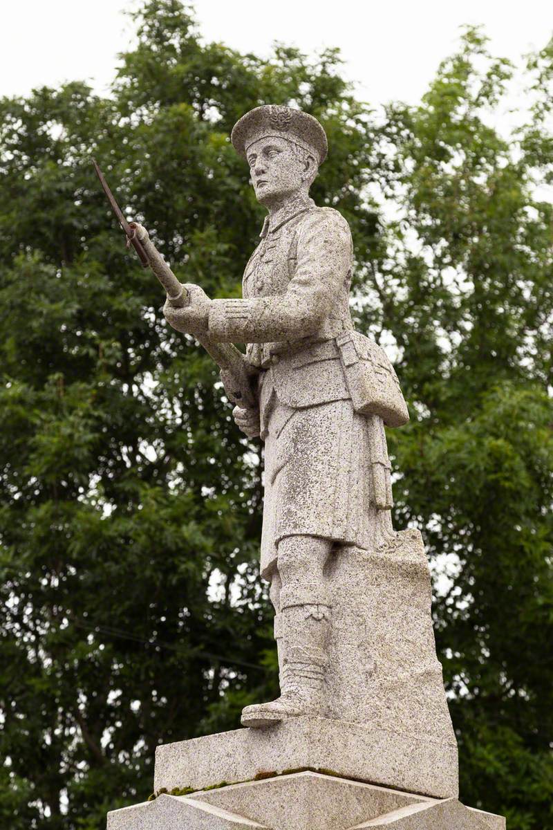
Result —
<svg viewBox="0 0 553 830"><path fill-rule="evenodd" d="M241 729L158 746L154 789L202 789L305 767L436 798L458 794L455 745L415 732L308 717L267 730Z"/></svg>

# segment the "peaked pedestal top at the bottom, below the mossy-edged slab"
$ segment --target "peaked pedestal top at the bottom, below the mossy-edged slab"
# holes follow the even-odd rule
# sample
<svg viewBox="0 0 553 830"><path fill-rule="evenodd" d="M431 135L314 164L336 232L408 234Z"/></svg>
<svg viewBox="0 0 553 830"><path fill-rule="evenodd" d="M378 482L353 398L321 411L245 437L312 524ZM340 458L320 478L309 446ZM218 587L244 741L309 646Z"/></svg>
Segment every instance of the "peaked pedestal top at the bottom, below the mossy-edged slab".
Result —
<svg viewBox="0 0 553 830"><path fill-rule="evenodd" d="M505 830L505 819L313 772L232 784L109 813L108 830Z"/></svg>

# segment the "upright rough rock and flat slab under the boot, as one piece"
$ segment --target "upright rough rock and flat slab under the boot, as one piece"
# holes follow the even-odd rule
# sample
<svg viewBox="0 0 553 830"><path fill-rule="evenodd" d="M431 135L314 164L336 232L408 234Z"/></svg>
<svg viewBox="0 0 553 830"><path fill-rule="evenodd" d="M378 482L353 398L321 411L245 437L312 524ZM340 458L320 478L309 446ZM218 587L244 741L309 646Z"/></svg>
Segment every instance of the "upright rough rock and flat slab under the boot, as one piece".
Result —
<svg viewBox="0 0 553 830"><path fill-rule="evenodd" d="M308 767L434 798L457 796L457 742L420 533L397 533L376 551L340 549L326 577L332 627L323 717L160 746L155 789L200 789Z"/></svg>

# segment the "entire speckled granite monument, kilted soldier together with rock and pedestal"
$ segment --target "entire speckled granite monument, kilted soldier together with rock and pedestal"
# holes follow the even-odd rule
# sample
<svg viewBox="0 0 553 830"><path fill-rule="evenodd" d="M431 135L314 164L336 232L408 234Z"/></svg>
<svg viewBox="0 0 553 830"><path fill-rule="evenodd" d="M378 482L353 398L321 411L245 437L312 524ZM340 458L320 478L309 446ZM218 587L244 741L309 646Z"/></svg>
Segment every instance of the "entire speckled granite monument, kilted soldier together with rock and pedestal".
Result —
<svg viewBox="0 0 553 830"><path fill-rule="evenodd" d="M131 231L168 323L220 364L236 425L263 442L281 694L246 706L246 729L159 746L155 800L109 813L108 828L502 830L458 801L424 544L390 519L385 427L409 416L390 360L352 324L347 221L309 197L326 134L265 105L231 141L268 212L242 299L181 286L147 230Z"/></svg>

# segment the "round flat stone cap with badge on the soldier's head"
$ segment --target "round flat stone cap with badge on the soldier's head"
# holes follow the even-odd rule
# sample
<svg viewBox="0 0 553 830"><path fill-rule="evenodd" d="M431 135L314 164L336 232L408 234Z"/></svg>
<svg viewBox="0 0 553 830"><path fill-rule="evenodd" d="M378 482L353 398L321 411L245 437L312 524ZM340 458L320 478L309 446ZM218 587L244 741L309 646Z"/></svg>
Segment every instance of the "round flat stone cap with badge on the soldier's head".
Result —
<svg viewBox="0 0 553 830"><path fill-rule="evenodd" d="M318 164L323 164L327 158L327 135L318 120L303 110L294 110L289 106L256 106L236 122L230 141L236 152L246 158L251 144L270 136L298 144L313 154Z"/></svg>

